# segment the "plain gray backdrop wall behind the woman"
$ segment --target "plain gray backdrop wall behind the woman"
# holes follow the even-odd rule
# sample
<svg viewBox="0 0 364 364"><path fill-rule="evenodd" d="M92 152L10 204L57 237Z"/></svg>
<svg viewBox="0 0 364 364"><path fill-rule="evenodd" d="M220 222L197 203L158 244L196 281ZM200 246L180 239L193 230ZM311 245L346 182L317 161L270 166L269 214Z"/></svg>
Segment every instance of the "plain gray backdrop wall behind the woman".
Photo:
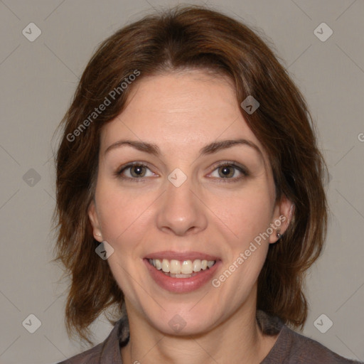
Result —
<svg viewBox="0 0 364 364"><path fill-rule="evenodd" d="M306 96L331 174L332 219L323 257L307 279L311 309L304 334L364 360L364 1L206 3L259 27ZM153 7L174 4L178 1L0 1L0 363L55 363L86 349L65 333L67 284L57 284L60 269L50 264L53 132L100 41ZM31 22L42 32L33 42L22 33ZM324 42L314 33L322 22L333 30ZM22 325L30 314L41 321L34 333ZM314 325L321 314L333 321L326 333ZM321 328L328 322L319 320ZM111 328L104 316L92 325L99 342Z"/></svg>

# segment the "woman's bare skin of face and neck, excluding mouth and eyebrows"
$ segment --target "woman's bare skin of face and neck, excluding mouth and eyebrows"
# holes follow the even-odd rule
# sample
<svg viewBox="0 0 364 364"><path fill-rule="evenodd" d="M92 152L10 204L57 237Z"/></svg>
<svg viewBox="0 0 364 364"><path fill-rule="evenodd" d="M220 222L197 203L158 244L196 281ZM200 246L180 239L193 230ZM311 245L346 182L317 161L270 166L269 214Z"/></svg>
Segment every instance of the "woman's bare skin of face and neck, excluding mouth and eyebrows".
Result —
<svg viewBox="0 0 364 364"><path fill-rule="evenodd" d="M239 138L262 156L247 145L199 156L206 144ZM120 139L154 143L161 155L127 145L105 154ZM255 321L257 278L276 230L218 288L209 282L189 293L166 291L143 262L163 250L206 252L222 261L215 278L279 216L286 217L280 232L287 228L291 202L275 202L267 154L247 127L230 80L200 70L144 77L100 142L88 213L95 239L114 249L107 261L125 295L131 336L123 363L260 363L277 341ZM148 167L115 176L132 161ZM225 177L222 161L244 166L248 176L230 166ZM175 168L187 176L179 187L167 178ZM122 179L137 179L138 172L139 182ZM179 332L168 325L176 314L186 322Z"/></svg>

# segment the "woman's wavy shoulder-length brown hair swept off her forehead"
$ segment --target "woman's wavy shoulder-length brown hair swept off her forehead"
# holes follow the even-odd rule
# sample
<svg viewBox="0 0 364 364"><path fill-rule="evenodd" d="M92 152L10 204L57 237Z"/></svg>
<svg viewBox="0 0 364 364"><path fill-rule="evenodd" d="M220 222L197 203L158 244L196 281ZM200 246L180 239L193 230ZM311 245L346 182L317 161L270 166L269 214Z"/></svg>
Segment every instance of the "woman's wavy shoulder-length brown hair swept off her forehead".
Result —
<svg viewBox="0 0 364 364"><path fill-rule="evenodd" d="M53 260L62 262L71 280L65 308L69 336L75 330L92 343L88 326L109 307L116 308L117 318L124 302L107 261L95 254L98 242L87 215L95 191L101 128L122 112L130 90L144 76L195 68L227 75L239 103L252 95L260 104L253 114L241 112L267 151L277 200L287 196L294 213L281 241L269 245L258 279L257 309L293 327L303 327L306 321L304 273L322 250L328 210L323 188L326 165L304 97L257 31L212 9L176 6L125 26L100 45L60 123ZM137 80L120 87L138 72ZM112 90L119 90L113 100ZM92 112L106 98L110 105L95 117Z"/></svg>

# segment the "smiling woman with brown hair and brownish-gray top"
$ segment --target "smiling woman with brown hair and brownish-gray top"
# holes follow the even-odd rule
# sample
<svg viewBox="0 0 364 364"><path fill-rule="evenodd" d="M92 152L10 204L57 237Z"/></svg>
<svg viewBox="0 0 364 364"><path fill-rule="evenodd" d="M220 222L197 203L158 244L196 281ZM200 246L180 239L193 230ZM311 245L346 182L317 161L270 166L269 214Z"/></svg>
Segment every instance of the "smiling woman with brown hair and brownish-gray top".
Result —
<svg viewBox="0 0 364 364"><path fill-rule="evenodd" d="M63 119L62 363L354 363L299 335L326 236L325 164L304 98L250 28L198 6L109 37ZM291 328L289 328L289 326Z"/></svg>

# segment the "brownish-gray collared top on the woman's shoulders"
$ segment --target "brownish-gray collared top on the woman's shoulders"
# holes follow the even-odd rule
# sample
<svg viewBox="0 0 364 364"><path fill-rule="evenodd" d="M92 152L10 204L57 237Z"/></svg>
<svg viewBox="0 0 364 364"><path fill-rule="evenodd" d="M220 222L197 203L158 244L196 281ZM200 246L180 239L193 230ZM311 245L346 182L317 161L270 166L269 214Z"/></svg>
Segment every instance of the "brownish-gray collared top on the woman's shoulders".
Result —
<svg viewBox="0 0 364 364"><path fill-rule="evenodd" d="M350 364L361 363L333 353L311 338L292 331L277 317L257 311L257 322L263 333L279 333L276 343L260 364ZM120 349L129 340L126 316L115 323L104 342L58 364L122 364Z"/></svg>

